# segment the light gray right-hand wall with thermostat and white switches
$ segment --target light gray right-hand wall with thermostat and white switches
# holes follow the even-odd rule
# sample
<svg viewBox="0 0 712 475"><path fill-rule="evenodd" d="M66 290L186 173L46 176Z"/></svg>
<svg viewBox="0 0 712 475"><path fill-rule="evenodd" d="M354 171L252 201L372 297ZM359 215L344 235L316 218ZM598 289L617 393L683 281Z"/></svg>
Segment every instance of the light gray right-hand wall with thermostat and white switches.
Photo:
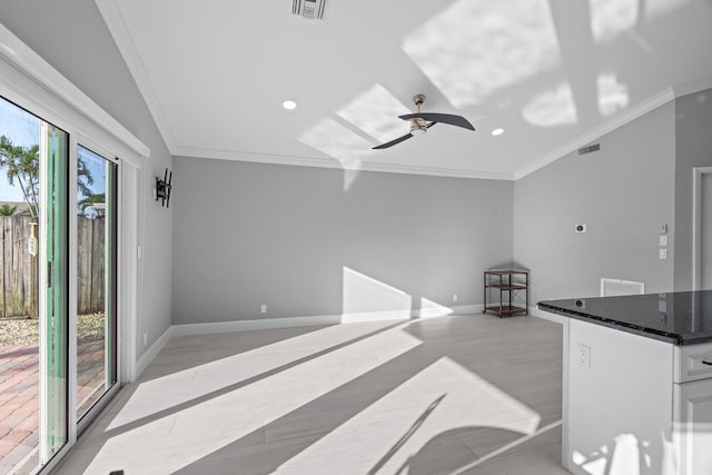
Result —
<svg viewBox="0 0 712 475"><path fill-rule="evenodd" d="M532 270L533 301L595 296L600 278L673 287L674 112L669 102L514 185L514 260ZM586 224L586 234L575 234ZM668 260L657 258L669 225Z"/></svg>

